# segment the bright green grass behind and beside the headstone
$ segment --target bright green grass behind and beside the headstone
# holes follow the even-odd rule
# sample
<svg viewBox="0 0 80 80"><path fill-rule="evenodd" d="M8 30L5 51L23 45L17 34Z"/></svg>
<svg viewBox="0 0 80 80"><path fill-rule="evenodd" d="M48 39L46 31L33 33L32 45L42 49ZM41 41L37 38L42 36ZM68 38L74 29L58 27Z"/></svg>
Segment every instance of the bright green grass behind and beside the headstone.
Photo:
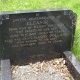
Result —
<svg viewBox="0 0 80 80"><path fill-rule="evenodd" d="M72 52L80 60L80 0L2 0L0 11L67 7L77 13L77 27Z"/></svg>

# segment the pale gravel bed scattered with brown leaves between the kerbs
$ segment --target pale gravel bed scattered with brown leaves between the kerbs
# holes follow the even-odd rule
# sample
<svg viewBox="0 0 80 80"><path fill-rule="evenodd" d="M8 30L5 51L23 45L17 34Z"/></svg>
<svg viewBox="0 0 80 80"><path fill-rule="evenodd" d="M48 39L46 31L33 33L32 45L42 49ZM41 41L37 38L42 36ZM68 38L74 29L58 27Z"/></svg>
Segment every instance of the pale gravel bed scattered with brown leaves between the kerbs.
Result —
<svg viewBox="0 0 80 80"><path fill-rule="evenodd" d="M12 80L72 80L63 58L11 66Z"/></svg>

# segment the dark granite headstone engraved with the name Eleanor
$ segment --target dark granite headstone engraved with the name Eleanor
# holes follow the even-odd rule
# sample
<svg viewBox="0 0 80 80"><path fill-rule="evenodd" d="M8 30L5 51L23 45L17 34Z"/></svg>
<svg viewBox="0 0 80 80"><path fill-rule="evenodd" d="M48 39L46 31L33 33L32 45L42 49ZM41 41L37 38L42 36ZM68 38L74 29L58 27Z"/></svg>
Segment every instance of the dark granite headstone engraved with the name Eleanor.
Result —
<svg viewBox="0 0 80 80"><path fill-rule="evenodd" d="M76 14L69 9L43 9L0 13L2 58L60 57L71 50Z"/></svg>

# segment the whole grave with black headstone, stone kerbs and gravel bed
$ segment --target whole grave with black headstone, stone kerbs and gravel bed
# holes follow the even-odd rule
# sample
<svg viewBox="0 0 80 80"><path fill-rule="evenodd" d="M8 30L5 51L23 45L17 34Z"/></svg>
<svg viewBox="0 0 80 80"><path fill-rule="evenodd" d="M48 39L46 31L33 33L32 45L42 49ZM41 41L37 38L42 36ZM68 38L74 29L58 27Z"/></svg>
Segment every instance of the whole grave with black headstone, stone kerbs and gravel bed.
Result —
<svg viewBox="0 0 80 80"><path fill-rule="evenodd" d="M55 76L60 77L61 80L73 80L71 76L74 80L79 80L80 62L71 52L75 28L76 14L67 8L1 12L2 80L19 80L20 77L20 80L26 80L28 77L33 78L35 75L33 73L38 74L40 70L42 72L37 78L34 77L34 80L53 80L53 78L55 80ZM47 67L41 66L42 64ZM37 65L40 69L36 67ZM29 72L28 75L27 67L34 69L32 74ZM23 72L20 69L24 69ZM51 72L51 69L55 72ZM17 71L26 76L20 76L21 73L16 75ZM13 79L14 77L16 78Z"/></svg>

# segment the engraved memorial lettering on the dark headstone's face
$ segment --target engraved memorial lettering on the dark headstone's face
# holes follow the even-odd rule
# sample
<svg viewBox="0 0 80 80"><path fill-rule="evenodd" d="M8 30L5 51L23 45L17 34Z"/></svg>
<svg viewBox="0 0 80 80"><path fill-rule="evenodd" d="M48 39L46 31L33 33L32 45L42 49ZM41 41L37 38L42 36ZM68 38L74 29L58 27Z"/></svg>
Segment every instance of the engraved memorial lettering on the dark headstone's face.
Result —
<svg viewBox="0 0 80 80"><path fill-rule="evenodd" d="M51 21L52 18L54 16L40 17L37 13L35 17L13 19L13 25L9 27L9 39L4 42L10 43L11 47L63 42L62 37L68 36L68 33L62 32L61 27L59 28L58 24Z"/></svg>

